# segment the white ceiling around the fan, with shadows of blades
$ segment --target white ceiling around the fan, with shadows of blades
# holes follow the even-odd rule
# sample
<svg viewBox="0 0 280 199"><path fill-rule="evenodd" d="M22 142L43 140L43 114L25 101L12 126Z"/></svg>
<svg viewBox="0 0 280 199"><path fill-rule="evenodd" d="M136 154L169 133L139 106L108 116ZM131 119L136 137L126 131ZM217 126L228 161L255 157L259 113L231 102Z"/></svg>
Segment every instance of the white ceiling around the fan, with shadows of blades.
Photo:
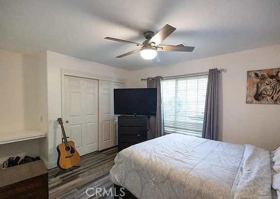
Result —
<svg viewBox="0 0 280 199"><path fill-rule="evenodd" d="M142 43L144 31L177 28L162 44L193 52L115 58ZM280 0L0 0L0 49L50 50L127 70L169 65L280 44Z"/></svg>

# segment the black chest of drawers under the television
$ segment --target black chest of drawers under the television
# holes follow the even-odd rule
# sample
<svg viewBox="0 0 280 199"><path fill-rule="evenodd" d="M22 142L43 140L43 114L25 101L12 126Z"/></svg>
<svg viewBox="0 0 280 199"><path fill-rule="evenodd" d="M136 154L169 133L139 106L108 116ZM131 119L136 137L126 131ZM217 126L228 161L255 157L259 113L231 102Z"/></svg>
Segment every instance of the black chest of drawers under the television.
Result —
<svg viewBox="0 0 280 199"><path fill-rule="evenodd" d="M119 116L119 151L147 140L147 116Z"/></svg>

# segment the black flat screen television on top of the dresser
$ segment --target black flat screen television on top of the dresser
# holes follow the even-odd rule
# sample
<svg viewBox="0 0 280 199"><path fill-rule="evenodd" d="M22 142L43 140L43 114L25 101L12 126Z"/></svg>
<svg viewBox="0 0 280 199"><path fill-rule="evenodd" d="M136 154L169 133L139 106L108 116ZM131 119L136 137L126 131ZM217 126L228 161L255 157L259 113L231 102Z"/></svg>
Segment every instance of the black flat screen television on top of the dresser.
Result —
<svg viewBox="0 0 280 199"><path fill-rule="evenodd" d="M157 88L114 89L115 115L157 115Z"/></svg>

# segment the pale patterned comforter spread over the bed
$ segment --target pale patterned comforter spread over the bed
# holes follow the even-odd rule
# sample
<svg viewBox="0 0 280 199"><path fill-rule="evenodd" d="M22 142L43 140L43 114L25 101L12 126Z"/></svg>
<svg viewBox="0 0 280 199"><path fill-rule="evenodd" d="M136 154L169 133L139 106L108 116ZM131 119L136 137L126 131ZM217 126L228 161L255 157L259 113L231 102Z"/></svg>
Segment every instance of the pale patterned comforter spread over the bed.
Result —
<svg viewBox="0 0 280 199"><path fill-rule="evenodd" d="M270 199L267 150L178 133L122 150L114 184L139 199Z"/></svg>

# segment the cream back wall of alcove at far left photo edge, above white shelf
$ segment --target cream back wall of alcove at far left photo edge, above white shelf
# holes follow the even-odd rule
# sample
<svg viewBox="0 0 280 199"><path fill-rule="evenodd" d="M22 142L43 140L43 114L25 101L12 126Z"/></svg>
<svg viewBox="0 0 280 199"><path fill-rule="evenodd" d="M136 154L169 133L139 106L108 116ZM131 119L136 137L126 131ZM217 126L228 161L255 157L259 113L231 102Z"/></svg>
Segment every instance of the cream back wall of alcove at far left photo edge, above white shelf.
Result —
<svg viewBox="0 0 280 199"><path fill-rule="evenodd" d="M0 133L24 129L22 57L0 50Z"/></svg>

